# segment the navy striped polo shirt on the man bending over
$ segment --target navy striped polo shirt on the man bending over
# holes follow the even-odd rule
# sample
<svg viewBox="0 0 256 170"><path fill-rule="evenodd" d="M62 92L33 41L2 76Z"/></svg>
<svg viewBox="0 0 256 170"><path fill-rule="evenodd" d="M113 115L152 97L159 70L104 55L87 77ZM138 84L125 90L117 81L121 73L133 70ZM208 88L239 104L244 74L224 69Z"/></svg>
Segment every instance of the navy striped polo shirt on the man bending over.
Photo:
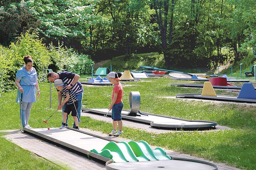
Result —
<svg viewBox="0 0 256 170"><path fill-rule="evenodd" d="M59 74L59 79L62 79L62 82L65 84L65 85L69 85L71 83L71 81L74 79L75 77L75 74L72 73L72 72L62 72L62 73L58 73ZM70 88L71 90L73 90L74 94L77 95L81 92L84 91L83 87L82 87L82 84L77 81L76 84L73 84L73 87Z"/></svg>

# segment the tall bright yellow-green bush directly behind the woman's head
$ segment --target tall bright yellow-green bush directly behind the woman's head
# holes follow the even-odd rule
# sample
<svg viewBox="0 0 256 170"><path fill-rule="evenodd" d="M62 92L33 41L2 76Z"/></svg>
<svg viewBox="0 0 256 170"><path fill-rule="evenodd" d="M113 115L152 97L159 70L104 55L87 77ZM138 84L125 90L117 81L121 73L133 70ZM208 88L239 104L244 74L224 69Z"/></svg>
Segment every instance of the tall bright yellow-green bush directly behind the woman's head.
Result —
<svg viewBox="0 0 256 170"><path fill-rule="evenodd" d="M0 91L8 91L16 88L14 81L16 72L24 65L23 56L30 55L34 62L34 68L38 73L38 81L46 77L44 68L49 65L48 51L41 40L35 34L28 32L11 43L9 48L0 46Z"/></svg>

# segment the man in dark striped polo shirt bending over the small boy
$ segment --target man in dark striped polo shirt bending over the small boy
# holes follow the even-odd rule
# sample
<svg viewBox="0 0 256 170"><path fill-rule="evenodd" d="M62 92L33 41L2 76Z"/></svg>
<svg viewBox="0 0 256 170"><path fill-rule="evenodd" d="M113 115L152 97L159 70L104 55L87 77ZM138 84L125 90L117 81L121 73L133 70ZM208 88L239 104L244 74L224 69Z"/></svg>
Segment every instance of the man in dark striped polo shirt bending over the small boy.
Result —
<svg viewBox="0 0 256 170"><path fill-rule="evenodd" d="M65 89L71 89L76 98L78 98L78 120L81 120L81 108L82 108L82 97L83 97L83 87L82 84L78 81L80 76L78 74L74 74L72 72L62 72L62 73L55 73L55 72L49 72L47 74L47 79L49 81L54 82L56 79L61 79L63 83L66 85L64 88ZM59 90L58 91L58 106L60 106L62 102L62 95ZM66 104L62 106L62 114L64 113L64 110L66 108ZM68 126L68 115L66 119L66 126ZM62 122L63 125L63 122ZM73 124L73 128L75 128L75 122Z"/></svg>

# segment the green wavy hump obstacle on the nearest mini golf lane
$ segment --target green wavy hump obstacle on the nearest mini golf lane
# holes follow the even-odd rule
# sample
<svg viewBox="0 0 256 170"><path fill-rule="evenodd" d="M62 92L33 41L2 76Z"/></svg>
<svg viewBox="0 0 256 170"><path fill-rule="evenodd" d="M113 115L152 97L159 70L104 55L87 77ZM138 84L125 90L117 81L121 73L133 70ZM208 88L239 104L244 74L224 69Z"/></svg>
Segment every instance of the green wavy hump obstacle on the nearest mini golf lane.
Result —
<svg viewBox="0 0 256 170"><path fill-rule="evenodd" d="M170 160L170 156L162 148L151 149L145 141L109 142L101 151L92 149L91 152L112 159L113 162L138 162L154 160Z"/></svg>

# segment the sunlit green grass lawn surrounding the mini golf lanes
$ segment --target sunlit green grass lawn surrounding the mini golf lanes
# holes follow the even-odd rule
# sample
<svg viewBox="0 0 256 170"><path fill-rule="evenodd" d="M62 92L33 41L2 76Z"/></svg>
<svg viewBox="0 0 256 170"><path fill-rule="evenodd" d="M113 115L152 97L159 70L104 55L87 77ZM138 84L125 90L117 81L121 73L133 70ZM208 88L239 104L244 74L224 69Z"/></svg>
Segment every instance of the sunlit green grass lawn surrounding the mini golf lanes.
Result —
<svg viewBox="0 0 256 170"><path fill-rule="evenodd" d="M85 77L88 76L82 76L81 78ZM202 89L171 86L171 83L189 83L188 81L160 78L125 83L126 86L123 86L124 109L129 109L129 92L139 91L141 95L140 111L142 112L184 119L217 121L218 125L228 126L232 129L222 131L176 131L165 134L154 134L139 129L128 128L124 124L124 134L122 134L122 137L135 141L144 140L150 145L228 164L241 169L255 169L256 113L254 106L165 98L180 93L201 94ZM56 110L58 104L57 92L52 88L52 108L49 109L49 83L41 83L39 87L41 97L37 100L37 103L33 104L29 124L33 128L59 127L62 122L61 112L55 113L48 120L48 124L42 121L49 118ZM108 108L111 103L112 90L113 86L84 86L83 107ZM237 95L222 90L215 91L216 94ZM19 128L19 105L15 103L15 99L16 91L8 92L0 98L0 116L4 119L0 124L0 130ZM101 131L106 135L112 130L111 123L95 120L90 117L82 117L81 119L81 128ZM73 120L69 119L69 124L72 123ZM0 138L0 145L4 146L2 148L8 151L15 151L17 148L16 145L2 138ZM19 149L22 153L27 152L21 148ZM30 153L28 152L28 154ZM11 166L14 159L15 157L8 157L7 152L0 154L0 162L4 161L7 164L6 166ZM7 160L10 161L7 162ZM35 158L35 161L45 164L44 160ZM43 162L41 163L41 161ZM21 164L20 166L22 166L23 161L17 164ZM47 164L51 163L47 162Z"/></svg>

